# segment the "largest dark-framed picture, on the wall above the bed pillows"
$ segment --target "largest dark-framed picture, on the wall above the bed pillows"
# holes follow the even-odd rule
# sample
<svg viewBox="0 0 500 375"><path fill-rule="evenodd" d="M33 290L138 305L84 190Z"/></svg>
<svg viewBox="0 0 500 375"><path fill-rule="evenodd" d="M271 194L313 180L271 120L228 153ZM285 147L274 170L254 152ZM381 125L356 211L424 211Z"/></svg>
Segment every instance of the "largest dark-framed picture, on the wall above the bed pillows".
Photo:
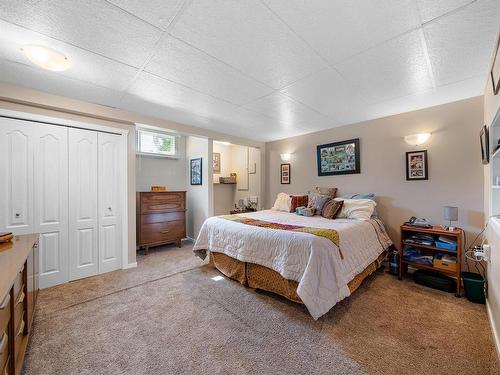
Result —
<svg viewBox="0 0 500 375"><path fill-rule="evenodd" d="M359 138L316 146L318 176L361 173Z"/></svg>

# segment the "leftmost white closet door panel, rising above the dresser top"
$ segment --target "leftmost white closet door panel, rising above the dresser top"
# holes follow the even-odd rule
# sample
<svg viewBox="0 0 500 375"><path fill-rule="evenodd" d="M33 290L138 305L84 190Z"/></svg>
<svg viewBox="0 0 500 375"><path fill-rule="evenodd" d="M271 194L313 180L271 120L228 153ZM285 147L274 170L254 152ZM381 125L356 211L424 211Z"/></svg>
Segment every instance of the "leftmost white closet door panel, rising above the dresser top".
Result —
<svg viewBox="0 0 500 375"><path fill-rule="evenodd" d="M0 230L33 232L33 139L35 125L0 118Z"/></svg>

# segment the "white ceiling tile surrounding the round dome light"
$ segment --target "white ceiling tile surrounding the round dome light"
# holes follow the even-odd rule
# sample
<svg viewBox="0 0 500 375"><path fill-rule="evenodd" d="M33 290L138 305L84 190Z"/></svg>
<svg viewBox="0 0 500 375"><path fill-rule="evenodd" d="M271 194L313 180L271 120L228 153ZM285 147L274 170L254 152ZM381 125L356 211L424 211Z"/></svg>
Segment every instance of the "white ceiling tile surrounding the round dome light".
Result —
<svg viewBox="0 0 500 375"><path fill-rule="evenodd" d="M55 49L67 56L72 64L68 70L58 74L117 91L124 90L138 71L138 69L128 65L1 20L0 28L2 29L2 33L0 33L0 57L30 65L39 69L41 74L44 70L33 65L21 52L23 46L37 44Z"/></svg>

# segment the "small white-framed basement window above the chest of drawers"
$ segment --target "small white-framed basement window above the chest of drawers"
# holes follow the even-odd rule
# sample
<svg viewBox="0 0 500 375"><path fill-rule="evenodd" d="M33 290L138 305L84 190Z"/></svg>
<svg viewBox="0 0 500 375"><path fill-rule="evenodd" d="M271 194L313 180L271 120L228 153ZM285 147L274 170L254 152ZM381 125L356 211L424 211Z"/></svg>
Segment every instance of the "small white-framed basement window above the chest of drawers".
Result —
<svg viewBox="0 0 500 375"><path fill-rule="evenodd" d="M136 132L136 141L137 154L177 157L177 136L175 135L139 129Z"/></svg>

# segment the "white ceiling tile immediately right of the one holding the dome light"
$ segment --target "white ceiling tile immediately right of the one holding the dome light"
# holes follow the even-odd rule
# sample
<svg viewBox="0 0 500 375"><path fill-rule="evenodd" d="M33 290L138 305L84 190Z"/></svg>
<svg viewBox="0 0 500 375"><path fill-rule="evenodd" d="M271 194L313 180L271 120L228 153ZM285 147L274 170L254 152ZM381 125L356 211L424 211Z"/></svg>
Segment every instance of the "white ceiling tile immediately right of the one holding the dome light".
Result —
<svg viewBox="0 0 500 375"><path fill-rule="evenodd" d="M234 104L145 72L139 75L128 93L152 103L190 111L207 118L222 117L237 108Z"/></svg>

